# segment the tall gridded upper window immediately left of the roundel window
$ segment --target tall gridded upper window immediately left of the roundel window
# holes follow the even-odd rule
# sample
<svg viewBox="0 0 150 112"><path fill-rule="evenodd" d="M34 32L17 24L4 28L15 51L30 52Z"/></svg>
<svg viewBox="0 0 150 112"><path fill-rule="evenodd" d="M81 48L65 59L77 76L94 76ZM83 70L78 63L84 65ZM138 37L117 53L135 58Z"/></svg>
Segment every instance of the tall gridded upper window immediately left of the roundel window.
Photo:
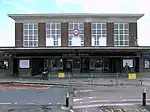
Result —
<svg viewBox="0 0 150 112"><path fill-rule="evenodd" d="M46 46L61 46L61 23L46 23Z"/></svg>

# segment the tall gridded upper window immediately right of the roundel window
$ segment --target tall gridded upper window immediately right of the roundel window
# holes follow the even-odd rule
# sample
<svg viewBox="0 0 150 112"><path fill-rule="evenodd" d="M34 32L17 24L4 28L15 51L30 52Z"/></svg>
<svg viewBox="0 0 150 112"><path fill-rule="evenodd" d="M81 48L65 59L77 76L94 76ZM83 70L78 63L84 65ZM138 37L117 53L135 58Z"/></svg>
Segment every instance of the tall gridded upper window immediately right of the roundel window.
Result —
<svg viewBox="0 0 150 112"><path fill-rule="evenodd" d="M92 46L106 46L106 23L92 23Z"/></svg>

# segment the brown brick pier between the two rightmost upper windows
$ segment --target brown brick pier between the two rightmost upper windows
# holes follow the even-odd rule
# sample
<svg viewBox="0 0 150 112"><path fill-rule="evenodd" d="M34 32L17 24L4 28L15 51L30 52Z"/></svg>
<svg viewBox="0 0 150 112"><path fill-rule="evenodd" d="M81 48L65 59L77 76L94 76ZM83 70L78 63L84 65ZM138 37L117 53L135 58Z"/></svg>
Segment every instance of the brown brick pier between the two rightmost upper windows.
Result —
<svg viewBox="0 0 150 112"><path fill-rule="evenodd" d="M114 46L114 23L107 23L107 46Z"/></svg>

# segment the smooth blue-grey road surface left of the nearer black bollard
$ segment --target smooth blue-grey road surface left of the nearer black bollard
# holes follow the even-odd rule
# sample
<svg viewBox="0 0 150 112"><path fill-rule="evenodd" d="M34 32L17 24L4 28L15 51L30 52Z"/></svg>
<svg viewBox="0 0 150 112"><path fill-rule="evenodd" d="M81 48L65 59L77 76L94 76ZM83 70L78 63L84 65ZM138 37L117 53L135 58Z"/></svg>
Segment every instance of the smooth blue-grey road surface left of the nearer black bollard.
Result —
<svg viewBox="0 0 150 112"><path fill-rule="evenodd" d="M18 88L0 89L0 104L65 104L66 92L71 88Z"/></svg>

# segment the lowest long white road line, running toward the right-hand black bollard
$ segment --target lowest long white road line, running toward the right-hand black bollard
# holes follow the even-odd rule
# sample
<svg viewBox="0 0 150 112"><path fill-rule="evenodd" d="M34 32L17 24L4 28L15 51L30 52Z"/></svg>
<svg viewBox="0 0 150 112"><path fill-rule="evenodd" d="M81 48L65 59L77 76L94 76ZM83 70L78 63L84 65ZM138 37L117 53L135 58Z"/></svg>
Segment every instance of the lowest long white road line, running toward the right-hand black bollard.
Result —
<svg viewBox="0 0 150 112"><path fill-rule="evenodd" d="M138 105L139 103L116 103L116 104L93 104L93 105L82 105L82 106L74 106L74 108L91 108L91 107L99 107L99 106L133 106ZM150 103L147 103L147 105L150 105Z"/></svg>

